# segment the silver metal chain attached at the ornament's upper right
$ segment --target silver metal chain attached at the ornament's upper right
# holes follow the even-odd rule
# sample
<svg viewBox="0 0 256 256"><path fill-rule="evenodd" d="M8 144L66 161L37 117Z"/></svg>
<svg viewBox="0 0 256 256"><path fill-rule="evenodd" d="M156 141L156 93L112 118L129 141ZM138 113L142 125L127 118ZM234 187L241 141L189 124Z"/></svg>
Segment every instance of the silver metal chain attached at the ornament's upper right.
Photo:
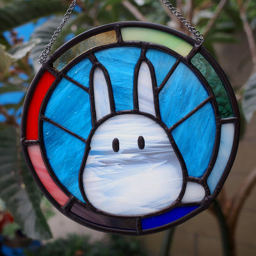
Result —
<svg viewBox="0 0 256 256"><path fill-rule="evenodd" d="M202 44L204 42L204 35L202 35L195 27L193 27L188 20L170 3L170 1L162 0L162 2L169 8L169 10L182 22L195 37L196 41Z"/></svg>

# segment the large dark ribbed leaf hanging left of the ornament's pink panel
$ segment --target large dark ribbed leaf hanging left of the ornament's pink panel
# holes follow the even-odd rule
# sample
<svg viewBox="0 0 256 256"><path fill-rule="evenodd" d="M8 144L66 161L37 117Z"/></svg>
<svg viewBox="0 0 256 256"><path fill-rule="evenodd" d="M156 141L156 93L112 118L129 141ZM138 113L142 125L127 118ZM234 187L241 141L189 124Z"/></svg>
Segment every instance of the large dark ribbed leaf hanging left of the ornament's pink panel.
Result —
<svg viewBox="0 0 256 256"><path fill-rule="evenodd" d="M49 239L51 231L40 210L41 195L21 160L17 130L0 125L0 197L24 234L33 239Z"/></svg>

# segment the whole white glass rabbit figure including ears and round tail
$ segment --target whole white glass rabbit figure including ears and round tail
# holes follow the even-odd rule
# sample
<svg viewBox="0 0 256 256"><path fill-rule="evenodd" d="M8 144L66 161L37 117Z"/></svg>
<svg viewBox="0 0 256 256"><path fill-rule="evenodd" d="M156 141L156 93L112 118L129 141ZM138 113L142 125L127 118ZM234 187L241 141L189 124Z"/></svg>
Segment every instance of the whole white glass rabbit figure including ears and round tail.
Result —
<svg viewBox="0 0 256 256"><path fill-rule="evenodd" d="M202 200L204 188L184 182L170 138L155 118L152 81L145 61L140 65L137 90L140 112L109 115L108 83L102 68L93 70L96 119L109 118L97 127L90 142L82 174L86 199L101 211L122 215L155 212L182 196L183 202Z"/></svg>

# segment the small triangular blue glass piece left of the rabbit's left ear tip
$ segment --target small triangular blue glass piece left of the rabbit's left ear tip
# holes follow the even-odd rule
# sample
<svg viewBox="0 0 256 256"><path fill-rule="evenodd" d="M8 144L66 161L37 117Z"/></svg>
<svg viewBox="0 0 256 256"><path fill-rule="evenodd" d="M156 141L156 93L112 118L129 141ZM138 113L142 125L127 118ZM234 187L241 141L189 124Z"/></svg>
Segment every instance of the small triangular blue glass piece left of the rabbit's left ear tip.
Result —
<svg viewBox="0 0 256 256"><path fill-rule="evenodd" d="M88 58L86 58L74 65L74 67L70 68L67 75L88 88L91 68L92 63L90 60L88 60Z"/></svg>

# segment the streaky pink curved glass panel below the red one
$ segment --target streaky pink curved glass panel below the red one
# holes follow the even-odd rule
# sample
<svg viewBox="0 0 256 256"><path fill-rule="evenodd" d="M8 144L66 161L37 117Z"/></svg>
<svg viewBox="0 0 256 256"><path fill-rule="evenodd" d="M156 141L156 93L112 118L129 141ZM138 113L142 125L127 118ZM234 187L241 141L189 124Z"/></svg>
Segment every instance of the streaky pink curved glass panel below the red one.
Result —
<svg viewBox="0 0 256 256"><path fill-rule="evenodd" d="M31 145L28 147L28 154L33 164L38 178L41 180L45 189L60 204L65 205L68 202L68 196L56 185L51 176L47 172L44 161L42 159L39 145Z"/></svg>

